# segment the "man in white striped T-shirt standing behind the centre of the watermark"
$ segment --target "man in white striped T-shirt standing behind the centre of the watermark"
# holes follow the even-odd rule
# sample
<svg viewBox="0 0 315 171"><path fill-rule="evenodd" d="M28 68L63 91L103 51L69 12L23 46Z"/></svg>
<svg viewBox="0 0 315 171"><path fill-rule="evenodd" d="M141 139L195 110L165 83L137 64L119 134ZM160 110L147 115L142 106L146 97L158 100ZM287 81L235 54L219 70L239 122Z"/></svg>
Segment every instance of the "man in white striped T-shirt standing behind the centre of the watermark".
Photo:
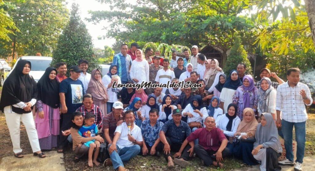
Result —
<svg viewBox="0 0 315 171"><path fill-rule="evenodd" d="M175 78L174 71L169 69L169 59L163 60L163 69L157 71L157 76L155 77L155 82L157 84L167 84L167 82L171 82L171 80ZM165 93L166 87L163 87L162 92Z"/></svg>

